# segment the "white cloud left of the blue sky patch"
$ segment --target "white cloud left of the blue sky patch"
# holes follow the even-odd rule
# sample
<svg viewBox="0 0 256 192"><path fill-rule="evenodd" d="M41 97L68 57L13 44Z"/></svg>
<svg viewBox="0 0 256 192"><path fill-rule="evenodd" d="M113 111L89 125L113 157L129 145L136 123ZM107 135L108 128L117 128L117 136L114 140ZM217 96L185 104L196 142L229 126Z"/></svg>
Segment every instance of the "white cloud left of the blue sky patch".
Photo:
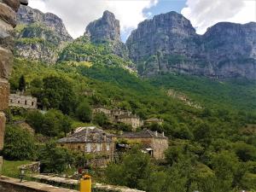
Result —
<svg viewBox="0 0 256 192"><path fill-rule="evenodd" d="M145 19L143 9L154 6L158 0L30 0L32 8L51 12L61 17L67 31L77 38L81 36L90 21L102 17L104 10L113 12L120 20L121 30L129 34Z"/></svg>

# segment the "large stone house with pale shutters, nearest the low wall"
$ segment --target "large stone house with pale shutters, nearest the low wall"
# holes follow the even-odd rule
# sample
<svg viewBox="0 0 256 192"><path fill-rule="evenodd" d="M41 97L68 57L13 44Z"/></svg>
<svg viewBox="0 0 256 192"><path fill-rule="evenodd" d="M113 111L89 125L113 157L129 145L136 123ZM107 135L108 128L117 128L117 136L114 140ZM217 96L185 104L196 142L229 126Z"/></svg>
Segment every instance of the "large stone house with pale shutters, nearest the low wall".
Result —
<svg viewBox="0 0 256 192"><path fill-rule="evenodd" d="M106 166L113 160L115 151L115 137L96 128L95 126L79 127L73 134L61 138L57 144L61 148L68 148L84 154L91 154L90 164Z"/></svg>

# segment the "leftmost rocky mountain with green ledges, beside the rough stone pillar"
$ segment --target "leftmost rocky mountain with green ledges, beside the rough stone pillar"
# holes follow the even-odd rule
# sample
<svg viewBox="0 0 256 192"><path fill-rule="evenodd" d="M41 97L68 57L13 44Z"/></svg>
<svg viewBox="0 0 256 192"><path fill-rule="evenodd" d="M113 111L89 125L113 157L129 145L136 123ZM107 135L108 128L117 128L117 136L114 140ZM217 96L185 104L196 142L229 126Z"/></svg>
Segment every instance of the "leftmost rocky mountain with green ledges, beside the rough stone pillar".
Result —
<svg viewBox="0 0 256 192"><path fill-rule="evenodd" d="M17 56L55 63L58 52L67 42L73 41L62 20L51 13L21 6L17 13Z"/></svg>

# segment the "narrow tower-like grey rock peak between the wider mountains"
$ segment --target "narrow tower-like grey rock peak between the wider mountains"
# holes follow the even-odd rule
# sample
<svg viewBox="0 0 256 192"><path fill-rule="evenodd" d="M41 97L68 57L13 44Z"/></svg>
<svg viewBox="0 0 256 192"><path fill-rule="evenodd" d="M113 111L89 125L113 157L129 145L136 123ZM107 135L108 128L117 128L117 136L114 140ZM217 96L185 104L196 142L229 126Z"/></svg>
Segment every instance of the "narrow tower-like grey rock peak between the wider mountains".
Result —
<svg viewBox="0 0 256 192"><path fill-rule="evenodd" d="M90 22L86 32L92 42L120 41L119 20L108 10L103 13L99 20Z"/></svg>

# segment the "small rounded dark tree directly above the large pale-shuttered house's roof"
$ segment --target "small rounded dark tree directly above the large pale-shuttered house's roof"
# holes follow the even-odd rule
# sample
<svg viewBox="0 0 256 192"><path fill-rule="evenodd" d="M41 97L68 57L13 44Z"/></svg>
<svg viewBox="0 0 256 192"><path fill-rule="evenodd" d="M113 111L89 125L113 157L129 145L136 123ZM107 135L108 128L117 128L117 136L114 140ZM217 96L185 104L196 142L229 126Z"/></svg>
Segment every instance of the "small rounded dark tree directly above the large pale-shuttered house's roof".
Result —
<svg viewBox="0 0 256 192"><path fill-rule="evenodd" d="M76 116L83 122L90 122L92 110L88 102L81 102L76 109Z"/></svg>

